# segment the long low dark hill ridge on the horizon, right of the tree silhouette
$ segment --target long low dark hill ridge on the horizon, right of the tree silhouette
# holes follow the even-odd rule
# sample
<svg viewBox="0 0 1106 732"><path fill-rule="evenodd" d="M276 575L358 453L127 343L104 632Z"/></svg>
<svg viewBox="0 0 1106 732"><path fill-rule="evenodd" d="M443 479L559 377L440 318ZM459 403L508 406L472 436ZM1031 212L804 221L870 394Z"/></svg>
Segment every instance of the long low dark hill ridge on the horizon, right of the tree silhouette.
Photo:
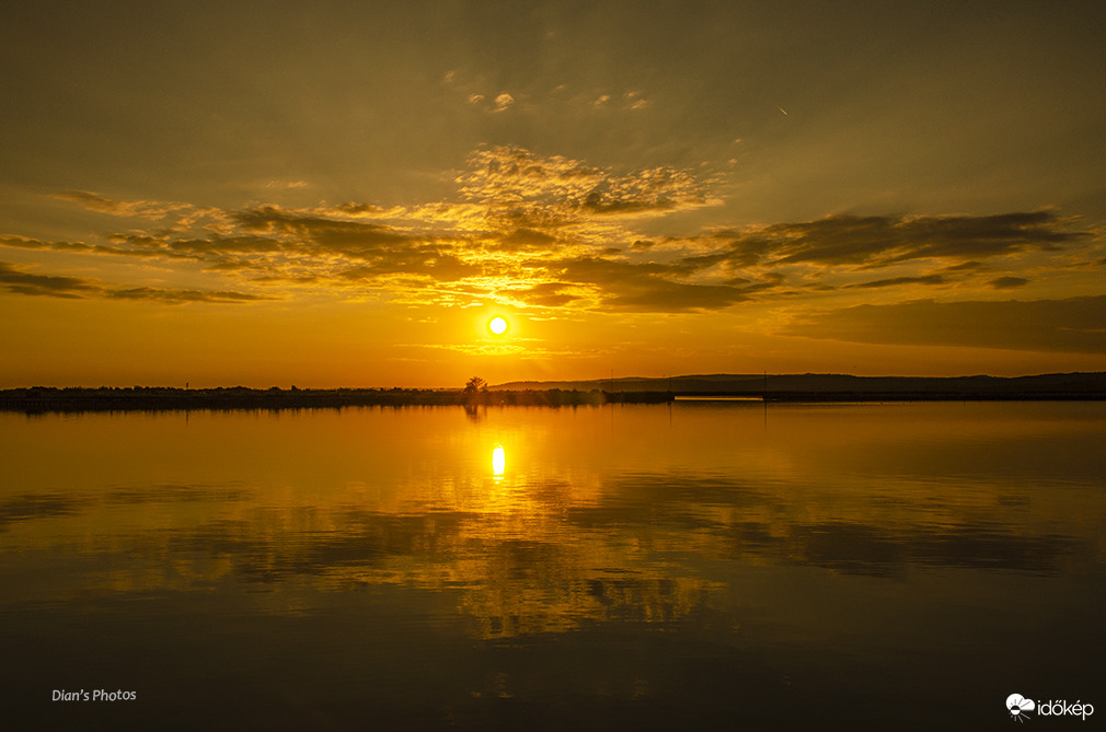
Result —
<svg viewBox="0 0 1106 732"><path fill-rule="evenodd" d="M693 374L670 378L624 377L582 381L511 381L490 387L664 391L677 395L770 395L775 398L1106 398L1106 373L1036 376L851 376L847 374Z"/></svg>

